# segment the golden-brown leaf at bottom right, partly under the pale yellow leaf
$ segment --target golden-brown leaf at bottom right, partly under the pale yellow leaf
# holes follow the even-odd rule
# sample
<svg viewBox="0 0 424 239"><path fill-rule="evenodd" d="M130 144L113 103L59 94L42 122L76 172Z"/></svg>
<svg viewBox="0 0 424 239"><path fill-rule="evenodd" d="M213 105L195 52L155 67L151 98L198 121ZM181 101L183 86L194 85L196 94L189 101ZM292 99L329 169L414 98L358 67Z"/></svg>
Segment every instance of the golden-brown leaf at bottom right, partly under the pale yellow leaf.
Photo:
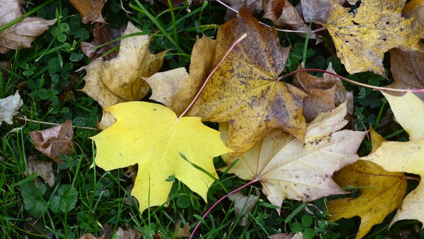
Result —
<svg viewBox="0 0 424 239"><path fill-rule="evenodd" d="M384 138L371 128L373 152L385 142ZM358 160L333 176L340 187L359 188L356 198L341 198L327 203L330 219L335 221L342 217L361 217L356 239L360 239L371 228L383 222L393 210L400 207L403 195L407 191L407 180L403 173L388 172L373 162Z"/></svg>

